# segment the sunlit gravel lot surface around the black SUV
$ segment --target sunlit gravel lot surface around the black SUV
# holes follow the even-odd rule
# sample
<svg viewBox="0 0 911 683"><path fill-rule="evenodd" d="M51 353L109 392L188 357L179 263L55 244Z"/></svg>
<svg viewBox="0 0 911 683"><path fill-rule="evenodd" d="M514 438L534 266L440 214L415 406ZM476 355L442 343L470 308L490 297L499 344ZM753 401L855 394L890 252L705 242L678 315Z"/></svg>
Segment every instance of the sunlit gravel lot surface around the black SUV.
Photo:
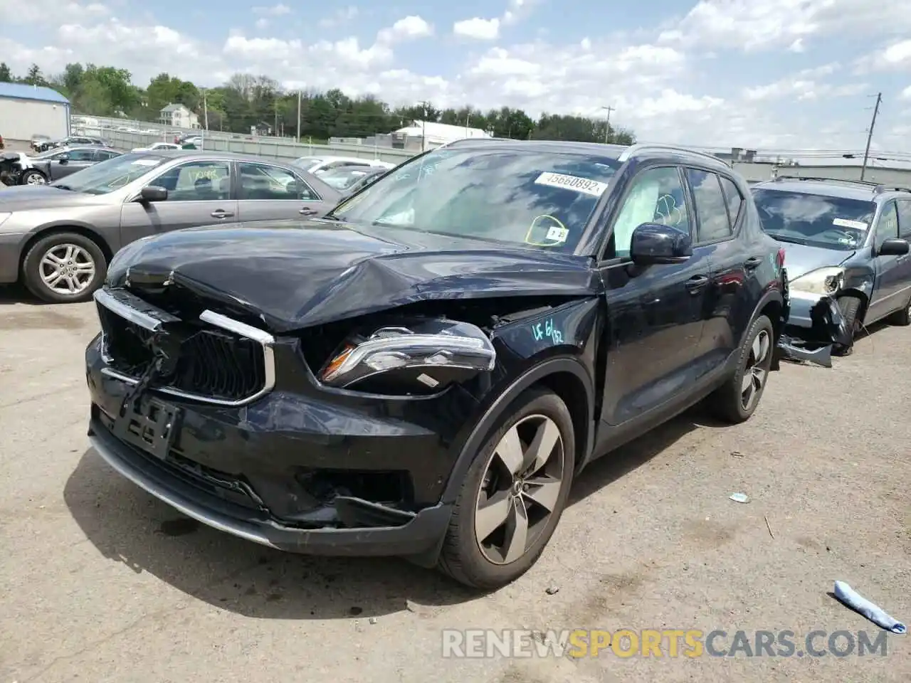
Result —
<svg viewBox="0 0 911 683"><path fill-rule="evenodd" d="M488 596L394 559L271 552L141 492L87 445L96 331L91 305L0 288L0 681L911 679L907 636L885 658L441 655L445 628L875 637L837 579L911 619L911 331L832 370L785 364L749 423L693 411L599 461L537 566Z"/></svg>

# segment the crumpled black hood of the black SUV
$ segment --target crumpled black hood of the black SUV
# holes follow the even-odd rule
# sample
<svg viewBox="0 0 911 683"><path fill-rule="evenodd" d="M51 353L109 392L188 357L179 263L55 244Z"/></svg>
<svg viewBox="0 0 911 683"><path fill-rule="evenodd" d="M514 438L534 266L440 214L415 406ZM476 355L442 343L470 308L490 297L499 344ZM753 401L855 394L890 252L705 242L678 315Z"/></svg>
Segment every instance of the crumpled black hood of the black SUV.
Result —
<svg viewBox="0 0 911 683"><path fill-rule="evenodd" d="M432 299L591 295L588 257L504 249L404 229L329 220L184 229L120 250L110 286L175 282L261 316L274 331Z"/></svg>

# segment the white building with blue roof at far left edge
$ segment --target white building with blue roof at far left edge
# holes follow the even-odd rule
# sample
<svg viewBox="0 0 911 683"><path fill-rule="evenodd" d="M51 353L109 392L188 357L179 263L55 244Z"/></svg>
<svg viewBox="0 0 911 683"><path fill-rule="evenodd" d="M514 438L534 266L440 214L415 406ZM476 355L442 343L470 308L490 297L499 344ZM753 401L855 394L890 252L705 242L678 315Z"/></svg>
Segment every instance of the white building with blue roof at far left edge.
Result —
<svg viewBox="0 0 911 683"><path fill-rule="evenodd" d="M69 100L49 87L0 83L0 136L5 140L69 135Z"/></svg>

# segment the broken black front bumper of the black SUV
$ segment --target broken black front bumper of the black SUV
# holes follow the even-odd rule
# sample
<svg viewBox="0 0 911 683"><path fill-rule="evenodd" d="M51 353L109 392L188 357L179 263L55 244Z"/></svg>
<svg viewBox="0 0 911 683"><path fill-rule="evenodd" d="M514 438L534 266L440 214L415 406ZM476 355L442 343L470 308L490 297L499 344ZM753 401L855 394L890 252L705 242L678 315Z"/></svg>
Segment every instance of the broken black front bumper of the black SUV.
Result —
<svg viewBox="0 0 911 683"><path fill-rule="evenodd" d="M104 372L100 338L86 362L92 446L184 515L289 552L435 564L451 514L441 494L454 458L407 410L390 414L282 387L240 407L148 392L179 411L173 445L153 454L118 432L113 416L130 384ZM453 403L436 408L459 413Z"/></svg>

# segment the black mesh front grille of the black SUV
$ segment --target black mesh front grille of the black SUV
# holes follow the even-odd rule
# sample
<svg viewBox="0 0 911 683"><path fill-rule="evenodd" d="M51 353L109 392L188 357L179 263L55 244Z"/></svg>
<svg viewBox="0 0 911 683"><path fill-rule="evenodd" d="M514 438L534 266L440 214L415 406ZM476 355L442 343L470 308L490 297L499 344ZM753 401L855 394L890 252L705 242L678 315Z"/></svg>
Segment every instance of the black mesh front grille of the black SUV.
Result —
<svg viewBox="0 0 911 683"><path fill-rule="evenodd" d="M154 360L148 343L153 332L100 302L98 318L111 370L131 378L142 376ZM153 386L219 403L242 402L266 388L266 357L260 342L205 322L181 323L179 335L175 369Z"/></svg>

